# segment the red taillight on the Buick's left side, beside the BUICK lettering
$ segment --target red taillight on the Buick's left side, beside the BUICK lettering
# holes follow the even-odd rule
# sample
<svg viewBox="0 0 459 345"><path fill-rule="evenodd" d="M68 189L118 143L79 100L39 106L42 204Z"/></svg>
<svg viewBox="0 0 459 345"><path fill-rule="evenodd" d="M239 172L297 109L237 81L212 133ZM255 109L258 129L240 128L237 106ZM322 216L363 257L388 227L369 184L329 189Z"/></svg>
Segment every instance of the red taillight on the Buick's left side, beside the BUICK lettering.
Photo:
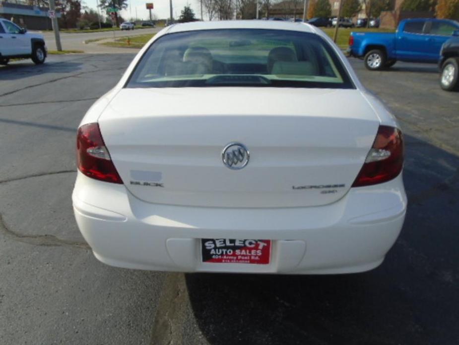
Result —
<svg viewBox="0 0 459 345"><path fill-rule="evenodd" d="M105 147L97 123L88 123L78 128L76 160L79 171L86 176L106 182L123 183Z"/></svg>

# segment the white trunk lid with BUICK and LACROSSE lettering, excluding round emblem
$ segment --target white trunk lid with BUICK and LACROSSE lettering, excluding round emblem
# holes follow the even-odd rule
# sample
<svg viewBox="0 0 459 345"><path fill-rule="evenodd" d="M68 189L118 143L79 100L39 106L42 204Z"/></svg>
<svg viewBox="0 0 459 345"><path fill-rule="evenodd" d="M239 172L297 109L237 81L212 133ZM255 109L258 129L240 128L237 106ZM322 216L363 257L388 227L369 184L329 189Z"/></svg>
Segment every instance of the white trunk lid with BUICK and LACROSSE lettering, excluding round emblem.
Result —
<svg viewBox="0 0 459 345"><path fill-rule="evenodd" d="M99 118L126 187L152 203L319 206L351 187L379 119L359 90L125 88ZM250 161L231 170L229 143Z"/></svg>

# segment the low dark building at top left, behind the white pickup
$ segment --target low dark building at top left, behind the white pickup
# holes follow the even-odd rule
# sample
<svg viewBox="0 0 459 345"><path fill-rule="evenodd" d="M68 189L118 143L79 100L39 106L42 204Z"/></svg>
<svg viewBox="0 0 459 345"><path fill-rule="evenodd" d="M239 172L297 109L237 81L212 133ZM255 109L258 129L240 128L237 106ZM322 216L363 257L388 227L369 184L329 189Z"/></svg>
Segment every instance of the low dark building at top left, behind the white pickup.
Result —
<svg viewBox="0 0 459 345"><path fill-rule="evenodd" d="M19 1L18 1L19 2ZM0 0L0 17L11 20L28 30L52 30L49 8ZM56 12L58 18L61 13Z"/></svg>

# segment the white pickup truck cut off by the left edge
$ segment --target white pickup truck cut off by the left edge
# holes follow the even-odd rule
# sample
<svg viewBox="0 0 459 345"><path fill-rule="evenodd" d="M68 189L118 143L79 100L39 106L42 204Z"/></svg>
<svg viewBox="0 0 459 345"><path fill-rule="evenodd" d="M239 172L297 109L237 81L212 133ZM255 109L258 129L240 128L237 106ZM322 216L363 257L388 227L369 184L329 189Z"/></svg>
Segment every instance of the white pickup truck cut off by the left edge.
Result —
<svg viewBox="0 0 459 345"><path fill-rule="evenodd" d="M45 38L12 21L0 18L0 65L13 58L30 58L36 65L43 64L47 55Z"/></svg>

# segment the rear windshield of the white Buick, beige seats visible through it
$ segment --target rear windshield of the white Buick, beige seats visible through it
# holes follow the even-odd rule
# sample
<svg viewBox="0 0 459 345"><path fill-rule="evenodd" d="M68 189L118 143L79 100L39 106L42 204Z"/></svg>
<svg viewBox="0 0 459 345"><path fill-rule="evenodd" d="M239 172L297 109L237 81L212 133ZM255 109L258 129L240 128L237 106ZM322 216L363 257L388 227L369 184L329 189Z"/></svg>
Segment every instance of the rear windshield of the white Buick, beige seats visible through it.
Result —
<svg viewBox="0 0 459 345"><path fill-rule="evenodd" d="M320 36L263 29L164 35L148 48L127 84L199 86L354 87Z"/></svg>

